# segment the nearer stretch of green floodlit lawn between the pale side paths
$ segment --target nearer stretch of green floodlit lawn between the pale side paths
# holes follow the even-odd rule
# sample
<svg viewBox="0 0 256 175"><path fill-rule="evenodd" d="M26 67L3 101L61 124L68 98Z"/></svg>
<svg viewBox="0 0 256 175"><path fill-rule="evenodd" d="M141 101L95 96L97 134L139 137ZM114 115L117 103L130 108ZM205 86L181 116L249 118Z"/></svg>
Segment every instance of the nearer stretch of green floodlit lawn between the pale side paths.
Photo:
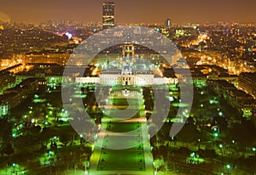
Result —
<svg viewBox="0 0 256 175"><path fill-rule="evenodd" d="M107 136L104 138L103 147L107 149L102 149L100 160L98 163L99 171L108 170L131 170L131 171L145 171L145 160L143 153L142 132L141 123L124 123L124 122L108 122L108 132ZM139 129L138 129L139 128ZM138 130L137 130L138 129ZM124 133L132 132L125 135L124 140L120 143L120 136L109 135L108 133ZM117 143L119 142L119 143ZM127 149L127 150L108 150L108 147L112 147L112 144L125 144L132 145L137 144L137 146Z"/></svg>

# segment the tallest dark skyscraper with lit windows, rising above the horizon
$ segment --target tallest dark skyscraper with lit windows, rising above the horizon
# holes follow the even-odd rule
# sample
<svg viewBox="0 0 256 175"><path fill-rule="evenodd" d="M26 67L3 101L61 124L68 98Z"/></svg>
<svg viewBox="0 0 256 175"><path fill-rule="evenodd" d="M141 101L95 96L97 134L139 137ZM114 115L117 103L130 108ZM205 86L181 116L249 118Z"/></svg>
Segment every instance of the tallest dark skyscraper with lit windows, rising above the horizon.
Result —
<svg viewBox="0 0 256 175"><path fill-rule="evenodd" d="M114 26L114 3L104 2L103 3L103 29L108 29Z"/></svg>

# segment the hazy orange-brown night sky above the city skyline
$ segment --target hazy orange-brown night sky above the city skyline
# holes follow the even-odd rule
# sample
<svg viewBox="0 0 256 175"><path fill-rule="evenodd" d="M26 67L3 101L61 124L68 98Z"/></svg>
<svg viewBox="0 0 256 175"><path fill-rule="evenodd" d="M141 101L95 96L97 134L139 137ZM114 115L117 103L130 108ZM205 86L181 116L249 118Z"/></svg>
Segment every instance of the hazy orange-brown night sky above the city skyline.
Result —
<svg viewBox="0 0 256 175"><path fill-rule="evenodd" d="M103 0L0 0L0 20L102 21ZM115 0L118 23L256 22L256 0Z"/></svg>

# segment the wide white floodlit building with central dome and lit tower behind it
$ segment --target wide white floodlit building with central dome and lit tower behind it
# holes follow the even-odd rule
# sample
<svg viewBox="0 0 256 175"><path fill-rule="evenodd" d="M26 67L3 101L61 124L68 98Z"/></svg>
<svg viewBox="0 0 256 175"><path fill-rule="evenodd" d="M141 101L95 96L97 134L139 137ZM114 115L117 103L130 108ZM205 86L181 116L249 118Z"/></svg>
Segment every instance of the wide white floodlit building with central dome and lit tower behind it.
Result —
<svg viewBox="0 0 256 175"><path fill-rule="evenodd" d="M97 83L102 85L117 85L117 86L147 86L160 84L176 84L176 77L164 77L159 69L158 74L155 70L147 69L155 65L147 65L150 63L137 63L138 59L135 56L134 45L127 43L122 47L122 58L116 59L113 65L119 65L119 68L102 69L97 77L76 77L76 82L83 84ZM111 64L110 64L111 65ZM145 68L146 67L146 68Z"/></svg>

